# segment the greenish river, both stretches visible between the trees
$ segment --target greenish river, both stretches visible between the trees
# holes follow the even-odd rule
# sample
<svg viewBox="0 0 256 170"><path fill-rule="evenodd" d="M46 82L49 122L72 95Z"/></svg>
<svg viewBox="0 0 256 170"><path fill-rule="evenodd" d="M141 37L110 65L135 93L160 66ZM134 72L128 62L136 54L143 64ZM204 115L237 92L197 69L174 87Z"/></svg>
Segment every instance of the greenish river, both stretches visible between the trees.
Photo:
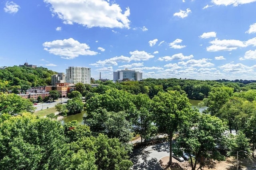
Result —
<svg viewBox="0 0 256 170"><path fill-rule="evenodd" d="M189 102L191 103L192 107L197 107L199 109L200 112L202 112L204 109L206 109L207 107L199 107L198 103L202 102L202 100L189 100ZM83 117L86 117L86 111L82 111L82 113L78 113L75 115L68 115L66 117L63 117L62 119L60 119L60 122L62 125L64 125L65 123L72 121L72 120L77 120L78 122L80 122L82 125L84 124L84 120Z"/></svg>

